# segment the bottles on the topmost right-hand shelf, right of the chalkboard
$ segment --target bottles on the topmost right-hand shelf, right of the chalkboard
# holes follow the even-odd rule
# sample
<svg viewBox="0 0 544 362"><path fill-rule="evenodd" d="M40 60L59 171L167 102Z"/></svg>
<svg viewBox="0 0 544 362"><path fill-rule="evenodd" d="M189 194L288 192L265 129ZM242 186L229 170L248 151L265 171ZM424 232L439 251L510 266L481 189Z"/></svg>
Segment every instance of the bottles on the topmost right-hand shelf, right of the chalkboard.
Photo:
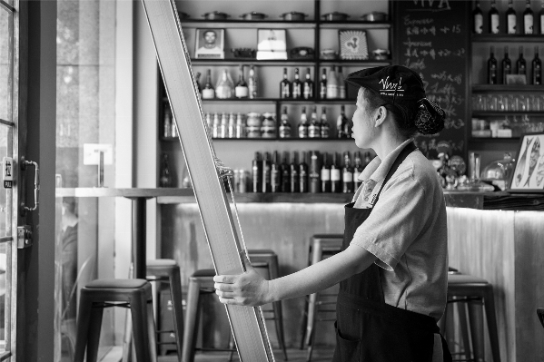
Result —
<svg viewBox="0 0 544 362"><path fill-rule="evenodd" d="M521 22L519 22L518 14L514 10L513 1L509 0L508 8L504 13L504 23L506 24L506 34L544 34L544 2L540 1L541 10L537 18L531 8L530 0L526 0L525 11L522 14ZM480 8L480 1L476 2L476 7L472 12L473 32L475 34L483 33L484 15ZM521 27L519 28L519 25ZM491 1L491 8L488 13L488 29L490 34L500 34L501 25L499 10L495 0Z"/></svg>

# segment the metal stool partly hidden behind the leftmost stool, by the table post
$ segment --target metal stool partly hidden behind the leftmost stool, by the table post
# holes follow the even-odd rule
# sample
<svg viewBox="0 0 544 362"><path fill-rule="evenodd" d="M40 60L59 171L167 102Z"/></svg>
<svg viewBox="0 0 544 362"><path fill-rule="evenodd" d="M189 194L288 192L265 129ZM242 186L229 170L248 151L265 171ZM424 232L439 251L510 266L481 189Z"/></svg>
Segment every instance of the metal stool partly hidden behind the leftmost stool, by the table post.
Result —
<svg viewBox="0 0 544 362"><path fill-rule="evenodd" d="M148 281L168 282L170 284L170 296L173 311L173 330L157 330L158 340L161 334L174 333L175 345L178 351L178 360L182 362L182 338L183 338L183 295L180 267L173 259L147 260L146 274ZM160 326L163 328L163 326Z"/></svg>

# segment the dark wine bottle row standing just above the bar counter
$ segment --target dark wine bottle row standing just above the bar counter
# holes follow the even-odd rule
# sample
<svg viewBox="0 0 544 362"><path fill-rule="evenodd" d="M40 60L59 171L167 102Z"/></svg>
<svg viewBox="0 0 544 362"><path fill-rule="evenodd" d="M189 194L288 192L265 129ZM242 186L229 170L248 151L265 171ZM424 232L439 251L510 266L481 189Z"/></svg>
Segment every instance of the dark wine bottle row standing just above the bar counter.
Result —
<svg viewBox="0 0 544 362"><path fill-rule="evenodd" d="M252 171L234 171L234 191L238 192L344 192L351 193L361 185L359 175L371 161L371 154L354 152L311 151L255 152Z"/></svg>

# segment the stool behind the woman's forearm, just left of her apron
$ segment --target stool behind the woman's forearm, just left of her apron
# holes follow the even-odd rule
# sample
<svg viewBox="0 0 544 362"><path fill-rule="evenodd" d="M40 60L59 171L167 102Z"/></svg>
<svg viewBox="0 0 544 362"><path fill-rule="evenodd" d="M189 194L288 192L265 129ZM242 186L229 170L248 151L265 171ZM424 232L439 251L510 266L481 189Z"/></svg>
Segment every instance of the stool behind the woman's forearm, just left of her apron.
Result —
<svg viewBox="0 0 544 362"><path fill-rule="evenodd" d="M312 236L310 242L310 260L309 264L313 265L320 262L322 259L331 257L341 251L343 234L316 234ZM320 313L331 313L336 311L336 300L322 300L324 298L331 299L337 296L338 293L313 293L306 298L306 310L302 320L302 342L301 349L304 344L308 346L307 360L312 360L313 340L315 338L315 326L317 322L333 321L336 318L319 318ZM321 308L325 306L333 306L333 308Z"/></svg>

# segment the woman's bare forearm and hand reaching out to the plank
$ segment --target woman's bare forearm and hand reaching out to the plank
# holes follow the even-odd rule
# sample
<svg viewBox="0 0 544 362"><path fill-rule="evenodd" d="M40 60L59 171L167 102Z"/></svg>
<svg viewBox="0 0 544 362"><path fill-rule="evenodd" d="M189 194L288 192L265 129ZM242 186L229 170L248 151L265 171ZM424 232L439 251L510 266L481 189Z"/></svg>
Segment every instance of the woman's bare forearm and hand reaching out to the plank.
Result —
<svg viewBox="0 0 544 362"><path fill-rule="evenodd" d="M263 279L246 262L240 275L217 275L215 293L224 304L261 306L276 300L302 297L330 288L343 279L367 269L376 257L366 249L350 245L317 264L282 278Z"/></svg>

